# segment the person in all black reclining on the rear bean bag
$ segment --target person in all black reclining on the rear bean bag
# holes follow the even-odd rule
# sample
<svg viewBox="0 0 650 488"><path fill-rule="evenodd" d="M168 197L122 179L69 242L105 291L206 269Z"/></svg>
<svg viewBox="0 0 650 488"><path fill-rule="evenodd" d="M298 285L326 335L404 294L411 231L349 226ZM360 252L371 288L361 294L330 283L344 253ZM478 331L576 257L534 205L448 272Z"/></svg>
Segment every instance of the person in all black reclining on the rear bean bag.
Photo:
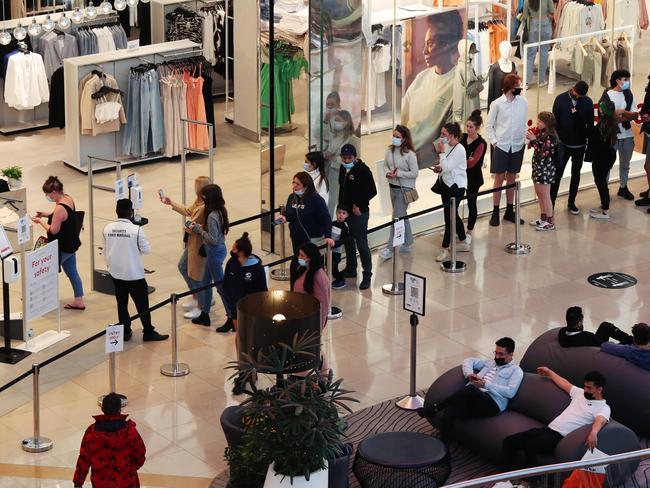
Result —
<svg viewBox="0 0 650 488"><path fill-rule="evenodd" d="M602 322L596 333L588 332L584 326L584 315L582 308L569 307L566 311L566 327L562 327L557 333L557 339L561 347L600 347L610 339L617 340L621 344L632 344L632 336L610 322Z"/></svg>

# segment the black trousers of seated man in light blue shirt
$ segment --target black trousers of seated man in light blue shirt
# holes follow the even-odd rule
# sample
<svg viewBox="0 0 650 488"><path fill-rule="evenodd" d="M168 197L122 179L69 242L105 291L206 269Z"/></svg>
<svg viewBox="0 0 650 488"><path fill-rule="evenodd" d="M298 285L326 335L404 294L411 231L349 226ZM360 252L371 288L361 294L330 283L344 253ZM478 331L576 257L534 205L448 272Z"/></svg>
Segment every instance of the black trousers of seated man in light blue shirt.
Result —
<svg viewBox="0 0 650 488"><path fill-rule="evenodd" d="M440 437L447 442L456 421L466 417L494 417L499 415L499 406L492 397L474 385L467 385L452 396L438 403L442 410Z"/></svg>

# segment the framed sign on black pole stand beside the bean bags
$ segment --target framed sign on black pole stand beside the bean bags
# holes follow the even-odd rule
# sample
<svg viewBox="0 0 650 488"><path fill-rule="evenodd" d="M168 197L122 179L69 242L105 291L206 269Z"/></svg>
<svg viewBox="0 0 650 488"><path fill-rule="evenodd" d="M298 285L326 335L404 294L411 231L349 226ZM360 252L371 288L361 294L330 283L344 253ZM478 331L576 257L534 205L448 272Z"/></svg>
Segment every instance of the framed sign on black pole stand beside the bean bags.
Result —
<svg viewBox="0 0 650 488"><path fill-rule="evenodd" d="M418 315L424 316L427 279L408 271L404 272L404 310L411 312L411 384L409 394L397 402L404 410L417 410L424 406L424 399L415 391L415 363L417 359Z"/></svg>

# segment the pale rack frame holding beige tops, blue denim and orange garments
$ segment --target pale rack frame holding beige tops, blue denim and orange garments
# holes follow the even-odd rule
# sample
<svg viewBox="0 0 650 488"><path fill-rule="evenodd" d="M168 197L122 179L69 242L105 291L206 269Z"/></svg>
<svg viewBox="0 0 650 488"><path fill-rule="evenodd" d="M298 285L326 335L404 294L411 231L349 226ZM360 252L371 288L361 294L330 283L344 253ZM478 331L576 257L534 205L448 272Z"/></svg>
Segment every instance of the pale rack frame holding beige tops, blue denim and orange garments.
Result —
<svg viewBox="0 0 650 488"><path fill-rule="evenodd" d="M200 45L188 40L165 42L123 49L110 53L92 54L68 58L63 62L65 77L65 156L64 162L84 173L88 171L88 157L98 156L119 160L122 164L136 164L161 159L161 154L149 154L142 158L122 155L122 132L96 136L80 133L79 81L93 70L101 70L115 78L122 91L129 85L131 68L142 63L161 63L178 56L201 53ZM124 101L124 100L123 100Z"/></svg>

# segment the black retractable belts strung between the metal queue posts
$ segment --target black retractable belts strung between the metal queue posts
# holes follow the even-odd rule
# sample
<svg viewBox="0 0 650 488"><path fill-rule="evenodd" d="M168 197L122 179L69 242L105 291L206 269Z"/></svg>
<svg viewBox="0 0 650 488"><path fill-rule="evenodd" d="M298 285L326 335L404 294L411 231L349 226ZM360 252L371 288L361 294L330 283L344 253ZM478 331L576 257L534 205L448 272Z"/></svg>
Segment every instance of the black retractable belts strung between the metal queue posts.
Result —
<svg viewBox="0 0 650 488"><path fill-rule="evenodd" d="M502 191L502 190L507 190L509 188L515 188L516 186L517 186L516 183L512 183L510 185L504 185L504 186L501 186L499 188L490 188L488 190L478 192L478 193L476 193L476 195L486 195L488 193L494 193L496 191ZM467 198L467 195L463 196L463 198L459 198L458 201L464 200L466 198ZM406 219L411 219L411 218L414 218L414 217L419 217L421 215L426 215L428 213L435 212L436 210L440 210L440 209L442 209L444 207L445 207L445 204L435 205L433 207L429 207L429 208L424 209L424 210L419 210L419 211L414 212L412 214L407 214L407 215L405 215L403 217L397 217L395 219L391 219L390 222L386 222L384 224L380 224L380 225L378 225L376 227L368 229L368 234L372 234L373 232L377 232L377 231L379 231L381 229L390 227L391 225L394 224L395 221L406 220ZM280 211L280 208L276 208L276 209L273 209L273 210L268 210L266 212L262 212L260 214L253 215L251 217L246 217L246 218L237 220L235 222L232 222L230 224L230 226L234 227L235 225L240 225L240 224L244 224L246 222L251 222L253 220L257 220L258 218L268 217L268 216L273 215L274 213L276 213L278 211ZM320 249L324 249L325 247L327 247L327 245L323 244L323 245L320 246ZM267 266L269 268L274 268L275 266L279 266L282 263L289 262L292 259L293 259L293 257L289 256L289 257L286 257L286 258L283 258L283 259L278 259L276 261L272 261L271 263L268 263L265 266ZM176 293L175 295L176 295L177 299L180 299L180 298L183 298L183 297L186 297L186 296L189 296L189 295L193 295L193 294L195 294L197 292L200 292L202 290L206 290L208 288L213 288L215 286L217 286L216 283L211 283L209 285L201 286L199 288L194 288L192 290L187 290L187 291L184 291L182 293ZM149 312L150 313L154 312L154 311L158 310L159 308L162 308L162 307L164 307L164 306L166 306L166 305L168 305L170 303L171 303L171 297L165 298L163 301L161 301L159 303L156 303L155 305L151 306L149 308ZM140 318L140 314L135 314L135 315L130 317L130 320L135 321L135 320L137 320L139 318ZM74 352L77 349L80 349L81 347L85 346L86 344L89 344L89 343L99 339L100 337L104 336L105 334L106 334L106 330L102 330L102 331L96 333L95 335L90 336L90 337L84 339L83 341L73 345L73 346L70 346L68 349L65 349L64 351L61 351L60 353L58 353L58 354L52 356L51 358L48 358L45 361L43 361L40 364L40 367L43 368L43 367L45 367L45 366L47 366L49 364L52 364L53 362L61 359L62 357L67 356L71 352ZM29 371L26 371L26 372L20 374L19 376L17 376L13 380L10 380L9 382L7 382L4 385L0 386L0 393L7 390L8 388L11 388L13 385L15 385L16 383L24 380L25 378L30 377L31 375L32 375L32 370L29 370Z"/></svg>

